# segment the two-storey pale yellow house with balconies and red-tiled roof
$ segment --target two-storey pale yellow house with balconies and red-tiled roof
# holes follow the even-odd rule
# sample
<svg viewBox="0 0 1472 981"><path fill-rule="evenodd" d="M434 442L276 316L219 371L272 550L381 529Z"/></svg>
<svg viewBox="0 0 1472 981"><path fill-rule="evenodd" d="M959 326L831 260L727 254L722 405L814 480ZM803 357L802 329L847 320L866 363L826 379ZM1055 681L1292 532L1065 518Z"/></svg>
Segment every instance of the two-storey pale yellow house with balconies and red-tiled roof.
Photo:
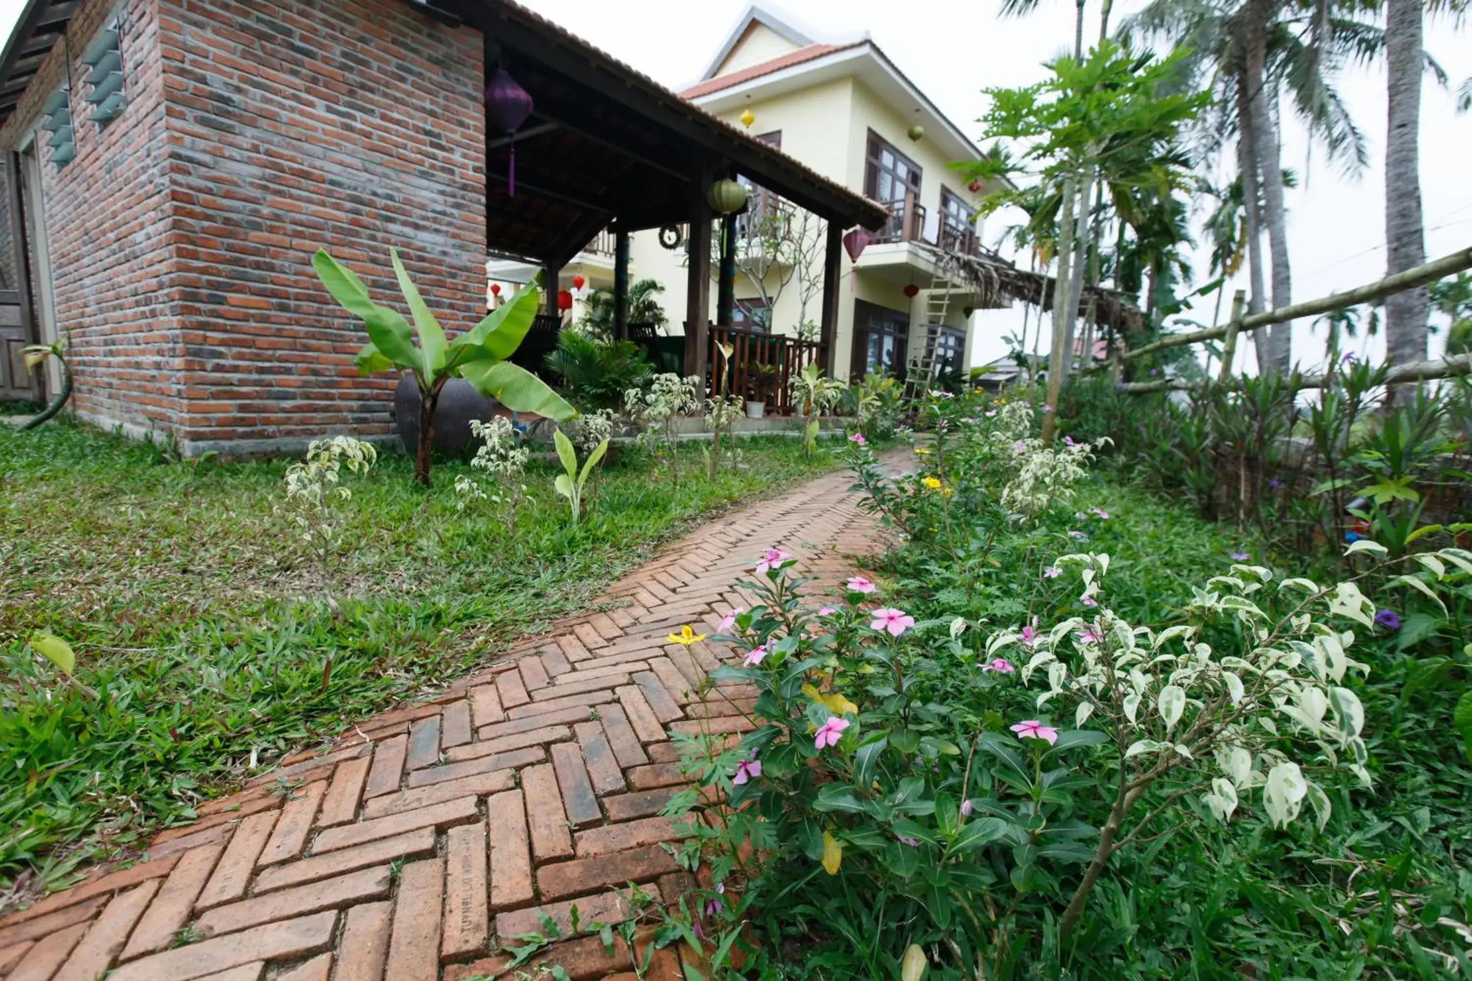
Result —
<svg viewBox="0 0 1472 981"><path fill-rule="evenodd" d="M979 252L976 203L991 188L967 187L949 165L976 160L980 150L873 40L813 38L752 6L704 76L680 94L889 210L857 260L842 256L848 281L838 296L833 350L823 359L835 375L972 363L976 300L948 254ZM742 182L748 201L735 221L735 334L720 337L760 331L815 343L826 228ZM687 243L676 231L683 232L630 237L630 274L664 284L671 332L680 332L687 309ZM720 254L720 243L712 252Z"/></svg>

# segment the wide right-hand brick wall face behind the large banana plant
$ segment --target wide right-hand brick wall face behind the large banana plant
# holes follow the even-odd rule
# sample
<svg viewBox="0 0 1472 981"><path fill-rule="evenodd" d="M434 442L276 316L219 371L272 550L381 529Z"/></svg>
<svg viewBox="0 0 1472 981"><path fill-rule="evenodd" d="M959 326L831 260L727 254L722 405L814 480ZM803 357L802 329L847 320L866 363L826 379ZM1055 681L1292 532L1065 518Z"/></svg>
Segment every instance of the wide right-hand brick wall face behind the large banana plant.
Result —
<svg viewBox="0 0 1472 981"><path fill-rule="evenodd" d="M446 327L484 316L481 35L402 0L159 0L187 452L390 431L394 379L316 281L381 303L397 246Z"/></svg>

